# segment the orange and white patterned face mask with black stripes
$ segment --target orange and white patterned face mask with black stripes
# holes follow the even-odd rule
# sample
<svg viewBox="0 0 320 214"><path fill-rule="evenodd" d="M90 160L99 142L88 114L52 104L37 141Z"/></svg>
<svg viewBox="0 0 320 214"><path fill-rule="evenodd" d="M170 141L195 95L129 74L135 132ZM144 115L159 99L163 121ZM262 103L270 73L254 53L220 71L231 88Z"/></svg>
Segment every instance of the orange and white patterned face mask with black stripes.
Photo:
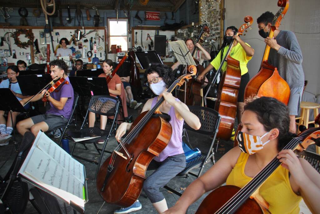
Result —
<svg viewBox="0 0 320 214"><path fill-rule="evenodd" d="M266 142L262 142L262 138L266 136L269 132L260 136L255 136L247 133L243 133L241 131L238 132L237 141L240 150L244 153L248 153L252 155L259 150L263 149L263 146L266 145L270 140Z"/></svg>

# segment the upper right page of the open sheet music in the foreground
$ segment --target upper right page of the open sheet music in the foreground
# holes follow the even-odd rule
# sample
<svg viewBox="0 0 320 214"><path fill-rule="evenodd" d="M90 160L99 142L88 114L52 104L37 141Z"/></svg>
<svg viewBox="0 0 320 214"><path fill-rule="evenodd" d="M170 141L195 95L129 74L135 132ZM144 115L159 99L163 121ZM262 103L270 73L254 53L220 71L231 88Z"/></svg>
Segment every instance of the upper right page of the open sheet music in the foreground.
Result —
<svg viewBox="0 0 320 214"><path fill-rule="evenodd" d="M47 153L67 172L74 175L82 184L84 184L84 167L83 164L72 158L66 151L64 151L58 144L53 142L43 132L38 133L36 137L36 146Z"/></svg>

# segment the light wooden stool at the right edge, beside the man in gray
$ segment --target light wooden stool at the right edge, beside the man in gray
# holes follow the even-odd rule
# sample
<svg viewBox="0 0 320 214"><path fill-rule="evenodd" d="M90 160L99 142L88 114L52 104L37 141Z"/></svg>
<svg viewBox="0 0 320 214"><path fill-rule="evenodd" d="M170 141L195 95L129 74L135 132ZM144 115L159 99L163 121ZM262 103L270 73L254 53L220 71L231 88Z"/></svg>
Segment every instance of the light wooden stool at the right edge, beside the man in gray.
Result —
<svg viewBox="0 0 320 214"><path fill-rule="evenodd" d="M299 123L296 124L298 125L298 127L299 125L304 125L308 128L310 123L315 123L315 121L309 121L309 111L310 109L313 109L314 118L316 119L316 116L319 114L320 104L312 102L301 102L300 108L300 117L296 117L296 119L299 119ZM319 127L319 125L315 124L315 127ZM300 133L299 129L297 133ZM316 146L316 153L320 154L320 148L318 146Z"/></svg>

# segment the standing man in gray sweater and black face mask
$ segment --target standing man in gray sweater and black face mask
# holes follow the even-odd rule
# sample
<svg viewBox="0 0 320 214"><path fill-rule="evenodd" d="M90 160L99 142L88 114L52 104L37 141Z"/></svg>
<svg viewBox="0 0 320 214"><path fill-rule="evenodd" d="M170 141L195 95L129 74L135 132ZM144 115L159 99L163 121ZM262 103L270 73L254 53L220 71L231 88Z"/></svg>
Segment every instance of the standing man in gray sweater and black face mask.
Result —
<svg viewBox="0 0 320 214"><path fill-rule="evenodd" d="M267 11L257 19L259 34L271 47L268 63L275 66L280 76L289 84L290 132L296 133L295 117L298 115L304 86L302 53L298 40L292 31L275 30L274 36L269 37L273 17L274 14Z"/></svg>

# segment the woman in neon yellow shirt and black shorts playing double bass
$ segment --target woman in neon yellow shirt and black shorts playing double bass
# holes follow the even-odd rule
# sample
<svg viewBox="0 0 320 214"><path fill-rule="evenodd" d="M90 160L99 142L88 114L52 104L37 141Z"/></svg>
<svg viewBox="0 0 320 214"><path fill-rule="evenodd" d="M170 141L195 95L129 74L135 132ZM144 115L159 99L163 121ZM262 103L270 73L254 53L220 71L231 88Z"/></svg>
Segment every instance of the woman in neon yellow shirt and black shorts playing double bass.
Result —
<svg viewBox="0 0 320 214"><path fill-rule="evenodd" d="M231 49L230 56L240 62L241 82L237 103L237 118L239 123L239 121L241 121L241 114L244 109L244 90L250 80L247 63L249 62L249 60L251 60L254 54L254 49L250 47L249 44L245 43L242 39L240 39L239 36L236 35L237 31L238 29L235 26L230 26L227 28L225 36L223 37L223 44L221 46L220 52L212 60L212 62L204 69L204 71L198 75L197 80L202 81L204 79L204 75L213 68L218 70L221 61L228 52L229 45L231 44L233 39L236 39L235 46ZM221 55L221 53L223 54ZM227 62L225 62L222 66L223 72L226 70L226 67Z"/></svg>

